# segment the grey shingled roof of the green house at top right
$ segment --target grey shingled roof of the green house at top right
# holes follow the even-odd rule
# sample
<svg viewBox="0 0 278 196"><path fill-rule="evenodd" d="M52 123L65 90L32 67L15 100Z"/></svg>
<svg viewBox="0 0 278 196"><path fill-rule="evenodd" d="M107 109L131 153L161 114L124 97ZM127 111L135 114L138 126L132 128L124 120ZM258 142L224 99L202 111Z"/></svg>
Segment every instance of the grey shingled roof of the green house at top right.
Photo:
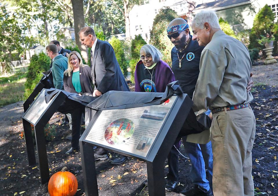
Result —
<svg viewBox="0 0 278 196"><path fill-rule="evenodd" d="M248 2L249 1L249 2ZM212 1L209 3L203 3L203 4L199 4L196 6L195 10L200 10L200 9L206 9L206 8L210 8L210 9L217 9L217 8L222 8L222 7L226 7L226 6L237 6L236 4L245 4L245 3L251 3L250 0L220 0L220 1Z"/></svg>

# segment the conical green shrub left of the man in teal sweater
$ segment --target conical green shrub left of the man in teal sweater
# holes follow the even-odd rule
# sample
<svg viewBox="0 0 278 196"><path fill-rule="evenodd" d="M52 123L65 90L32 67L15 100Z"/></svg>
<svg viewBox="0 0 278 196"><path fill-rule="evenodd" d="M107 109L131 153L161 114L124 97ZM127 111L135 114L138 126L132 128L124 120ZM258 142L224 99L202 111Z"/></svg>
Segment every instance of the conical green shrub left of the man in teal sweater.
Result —
<svg viewBox="0 0 278 196"><path fill-rule="evenodd" d="M26 83L25 83L25 93L24 97L27 99L36 85L42 78L42 72L46 72L50 68L50 58L41 52L39 55L34 54L30 60L30 65L28 67Z"/></svg>

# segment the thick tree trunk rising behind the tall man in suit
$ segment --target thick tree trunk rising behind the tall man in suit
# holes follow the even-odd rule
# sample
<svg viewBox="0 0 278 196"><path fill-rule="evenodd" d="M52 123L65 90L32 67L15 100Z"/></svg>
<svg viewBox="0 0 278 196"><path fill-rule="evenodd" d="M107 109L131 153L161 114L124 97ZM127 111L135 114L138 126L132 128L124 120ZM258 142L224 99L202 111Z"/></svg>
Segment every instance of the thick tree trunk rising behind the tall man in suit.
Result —
<svg viewBox="0 0 278 196"><path fill-rule="evenodd" d="M73 10L73 19L74 19L74 33L75 33L75 43L78 45L81 55L86 62L88 62L88 54L86 47L81 45L79 40L78 32L85 26L84 21L84 10L83 10L83 0L71 0L72 10Z"/></svg>

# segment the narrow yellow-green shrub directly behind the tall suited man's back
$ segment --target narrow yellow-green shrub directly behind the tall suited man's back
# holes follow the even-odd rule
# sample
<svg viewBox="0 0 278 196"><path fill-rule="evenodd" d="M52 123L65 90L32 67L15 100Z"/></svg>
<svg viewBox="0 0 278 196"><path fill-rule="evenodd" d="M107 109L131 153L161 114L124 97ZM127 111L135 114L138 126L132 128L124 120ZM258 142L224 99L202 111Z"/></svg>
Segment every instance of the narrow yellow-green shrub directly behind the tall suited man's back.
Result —
<svg viewBox="0 0 278 196"><path fill-rule="evenodd" d="M123 75L126 77L128 74L127 71L128 64L126 62L126 57L123 51L123 41L113 36L109 43L112 45L115 51L115 56L120 65L121 71L123 72Z"/></svg>

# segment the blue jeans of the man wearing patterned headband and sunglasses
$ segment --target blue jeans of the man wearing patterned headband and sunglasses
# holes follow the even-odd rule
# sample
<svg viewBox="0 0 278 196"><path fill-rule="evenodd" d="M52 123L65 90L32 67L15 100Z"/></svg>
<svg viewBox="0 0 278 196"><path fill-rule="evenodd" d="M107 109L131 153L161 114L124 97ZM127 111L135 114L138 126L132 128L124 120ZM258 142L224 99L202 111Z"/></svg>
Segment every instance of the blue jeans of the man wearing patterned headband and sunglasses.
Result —
<svg viewBox="0 0 278 196"><path fill-rule="evenodd" d="M212 190L212 145L195 144L191 142L183 142L185 152L191 161L190 179L198 188L207 192ZM206 168L208 169L209 181L206 179Z"/></svg>

